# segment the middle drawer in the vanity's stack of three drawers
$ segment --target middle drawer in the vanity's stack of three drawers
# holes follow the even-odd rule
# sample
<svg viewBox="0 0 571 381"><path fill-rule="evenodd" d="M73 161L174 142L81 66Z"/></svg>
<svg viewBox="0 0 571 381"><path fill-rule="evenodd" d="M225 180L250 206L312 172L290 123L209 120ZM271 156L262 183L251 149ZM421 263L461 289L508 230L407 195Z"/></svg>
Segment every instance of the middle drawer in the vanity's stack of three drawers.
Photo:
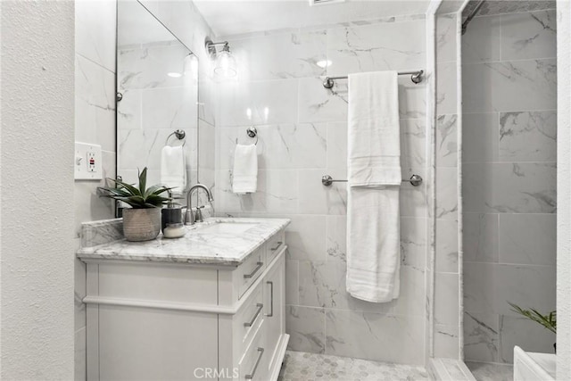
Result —
<svg viewBox="0 0 571 381"><path fill-rule="evenodd" d="M264 319L263 285L258 285L232 319L236 352L242 355Z"/></svg>

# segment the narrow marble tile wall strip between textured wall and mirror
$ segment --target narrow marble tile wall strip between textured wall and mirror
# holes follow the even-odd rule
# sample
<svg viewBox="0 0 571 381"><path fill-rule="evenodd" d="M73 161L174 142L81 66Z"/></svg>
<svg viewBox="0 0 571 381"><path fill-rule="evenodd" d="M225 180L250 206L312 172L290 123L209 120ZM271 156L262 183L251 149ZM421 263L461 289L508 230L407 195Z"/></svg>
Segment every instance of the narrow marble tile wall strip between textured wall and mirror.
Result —
<svg viewBox="0 0 571 381"><path fill-rule="evenodd" d="M103 178L115 177L115 25L116 2L75 4L75 140L102 146ZM112 203L96 195L102 181L79 180L74 185L75 246L81 223L113 217ZM86 267L75 258L75 378L86 378Z"/></svg>

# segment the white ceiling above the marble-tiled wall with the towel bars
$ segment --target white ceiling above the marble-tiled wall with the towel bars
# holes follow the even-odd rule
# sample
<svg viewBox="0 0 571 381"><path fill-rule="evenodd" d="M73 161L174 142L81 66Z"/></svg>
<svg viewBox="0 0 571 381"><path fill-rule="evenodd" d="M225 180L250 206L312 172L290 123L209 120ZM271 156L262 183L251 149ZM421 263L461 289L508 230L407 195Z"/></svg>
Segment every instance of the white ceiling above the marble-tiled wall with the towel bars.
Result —
<svg viewBox="0 0 571 381"><path fill-rule="evenodd" d="M429 3L430 0L346 0L310 6L309 0L194 0L217 37L424 14Z"/></svg>

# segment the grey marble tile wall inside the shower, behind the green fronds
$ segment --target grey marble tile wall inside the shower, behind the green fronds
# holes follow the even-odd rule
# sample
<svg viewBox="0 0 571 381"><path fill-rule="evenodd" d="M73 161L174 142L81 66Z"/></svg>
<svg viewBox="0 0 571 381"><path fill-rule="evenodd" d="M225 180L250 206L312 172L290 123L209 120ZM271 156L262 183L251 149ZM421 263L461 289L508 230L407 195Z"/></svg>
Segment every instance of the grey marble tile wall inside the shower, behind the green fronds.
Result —
<svg viewBox="0 0 571 381"><path fill-rule="evenodd" d="M508 302L555 310L554 10L476 17L462 38L466 360L552 352Z"/></svg>

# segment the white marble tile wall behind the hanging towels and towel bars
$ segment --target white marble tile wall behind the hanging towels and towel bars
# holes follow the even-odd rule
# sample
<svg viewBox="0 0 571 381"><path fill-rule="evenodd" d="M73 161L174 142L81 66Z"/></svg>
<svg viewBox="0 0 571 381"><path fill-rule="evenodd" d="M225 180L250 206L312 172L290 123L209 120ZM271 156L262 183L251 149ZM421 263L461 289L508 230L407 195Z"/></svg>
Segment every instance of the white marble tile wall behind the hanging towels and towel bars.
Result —
<svg viewBox="0 0 571 381"><path fill-rule="evenodd" d="M426 187L401 187L401 295L389 303L345 291L347 82L321 76L426 68L423 18L225 37L239 76L218 86L217 213L287 217L286 330L290 349L424 363ZM329 60L328 68L317 63ZM426 178L426 83L399 79L402 176ZM258 192L231 192L236 142L259 131ZM201 147L202 149L202 147Z"/></svg>

